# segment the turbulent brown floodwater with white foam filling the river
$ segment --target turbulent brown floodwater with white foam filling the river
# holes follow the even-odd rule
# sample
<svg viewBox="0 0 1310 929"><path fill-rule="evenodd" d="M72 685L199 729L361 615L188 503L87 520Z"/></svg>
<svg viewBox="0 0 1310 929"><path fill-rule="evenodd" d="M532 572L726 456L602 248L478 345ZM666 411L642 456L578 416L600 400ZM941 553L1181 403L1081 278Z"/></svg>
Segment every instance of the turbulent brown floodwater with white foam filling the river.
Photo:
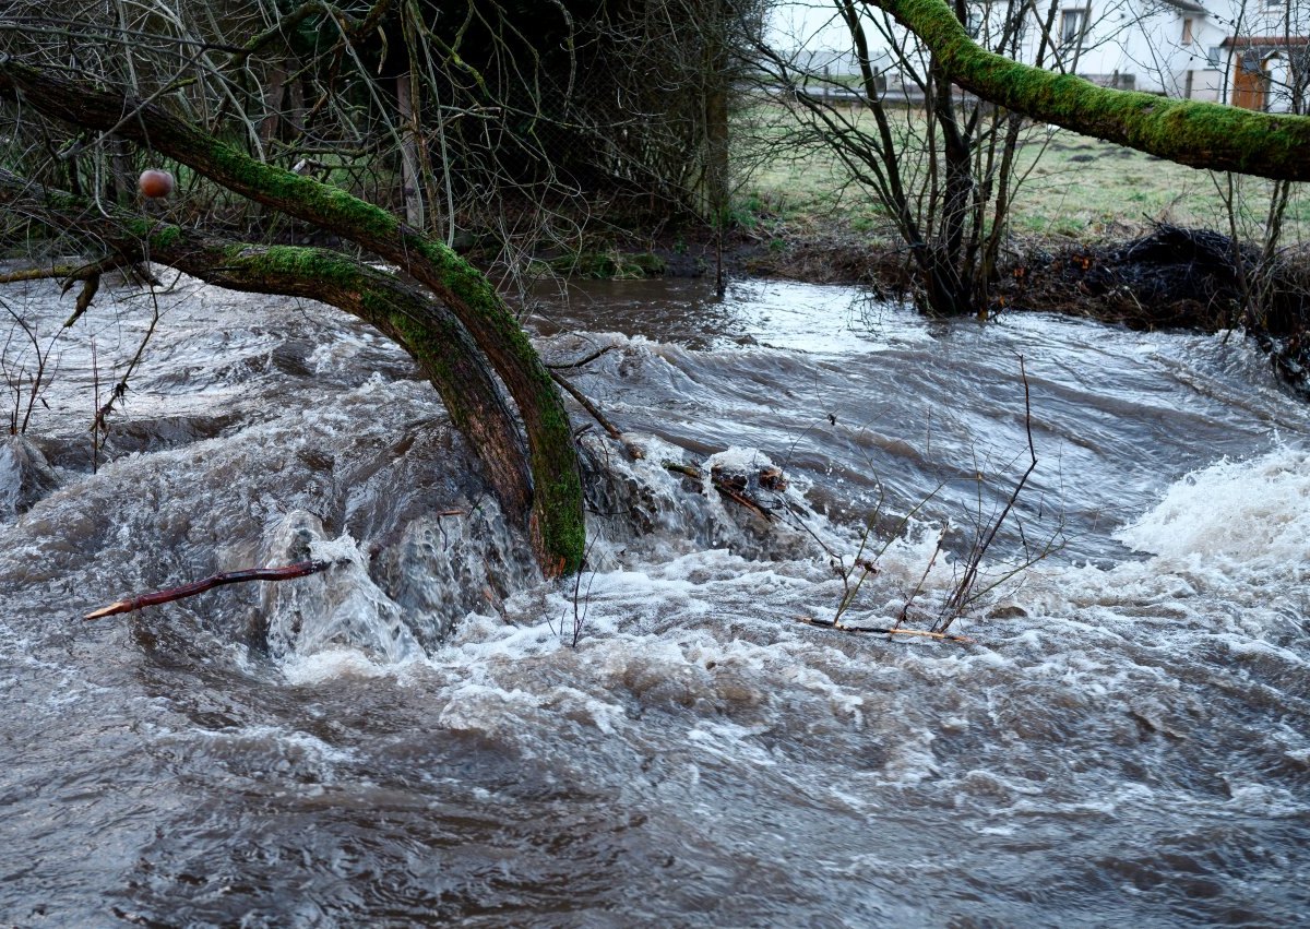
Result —
<svg viewBox="0 0 1310 929"><path fill-rule="evenodd" d="M544 583L342 313L106 284L51 343L72 296L0 297L52 375L0 446L0 925L1307 920L1310 408L1238 335L542 296L643 455L575 410L588 570ZM21 425L20 328L4 363ZM969 642L799 621L861 557L844 620L930 629L1030 431ZM337 566L81 620L307 546Z"/></svg>

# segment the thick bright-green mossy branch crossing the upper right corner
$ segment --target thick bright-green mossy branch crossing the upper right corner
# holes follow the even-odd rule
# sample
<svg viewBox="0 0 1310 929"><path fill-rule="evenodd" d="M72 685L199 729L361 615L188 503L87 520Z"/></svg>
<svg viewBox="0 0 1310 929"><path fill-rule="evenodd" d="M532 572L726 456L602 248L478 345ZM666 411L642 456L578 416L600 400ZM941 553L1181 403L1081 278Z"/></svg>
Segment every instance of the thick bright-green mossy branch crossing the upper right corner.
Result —
<svg viewBox="0 0 1310 929"><path fill-rule="evenodd" d="M979 47L943 0L863 0L922 39L950 80L982 100L1169 161L1310 181L1310 117L1112 90Z"/></svg>

